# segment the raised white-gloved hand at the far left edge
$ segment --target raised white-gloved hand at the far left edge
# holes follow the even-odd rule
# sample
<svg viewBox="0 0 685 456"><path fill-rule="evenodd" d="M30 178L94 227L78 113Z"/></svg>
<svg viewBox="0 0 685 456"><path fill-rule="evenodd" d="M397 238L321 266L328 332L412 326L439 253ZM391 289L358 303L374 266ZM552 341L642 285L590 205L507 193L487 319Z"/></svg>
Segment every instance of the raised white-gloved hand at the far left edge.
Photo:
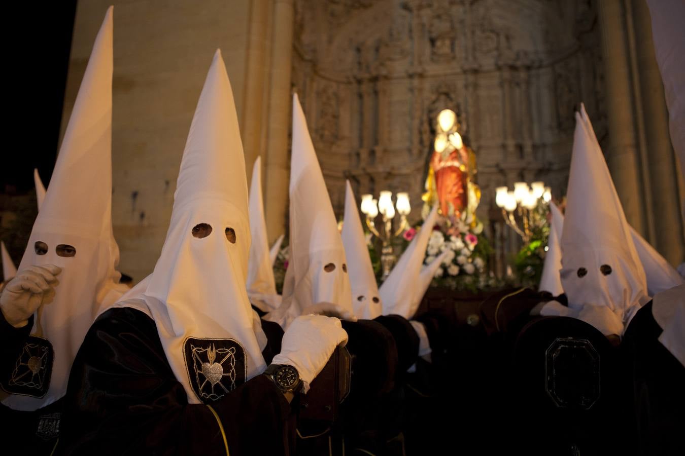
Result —
<svg viewBox="0 0 685 456"><path fill-rule="evenodd" d="M29 266L16 273L0 294L0 309L5 320L23 327L45 297L54 293L62 268L55 265Z"/></svg>

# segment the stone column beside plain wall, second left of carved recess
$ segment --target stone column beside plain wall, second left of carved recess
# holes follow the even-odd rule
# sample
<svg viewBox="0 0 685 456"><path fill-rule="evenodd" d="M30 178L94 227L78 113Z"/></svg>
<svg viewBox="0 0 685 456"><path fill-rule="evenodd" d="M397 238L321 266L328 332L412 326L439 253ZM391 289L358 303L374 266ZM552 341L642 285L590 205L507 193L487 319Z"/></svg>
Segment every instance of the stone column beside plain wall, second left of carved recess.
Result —
<svg viewBox="0 0 685 456"><path fill-rule="evenodd" d="M264 122L264 98L266 91L266 71L268 62L269 38L269 0L250 2L250 23L247 31L247 62L245 69L245 90L242 94L242 147L245 150L245 167L248 180L252 176L252 166L258 155L262 154ZM236 94L238 95L238 94ZM262 157L262 163L266 157ZM262 179L264 180L264 179ZM279 234L273 234L277 237Z"/></svg>

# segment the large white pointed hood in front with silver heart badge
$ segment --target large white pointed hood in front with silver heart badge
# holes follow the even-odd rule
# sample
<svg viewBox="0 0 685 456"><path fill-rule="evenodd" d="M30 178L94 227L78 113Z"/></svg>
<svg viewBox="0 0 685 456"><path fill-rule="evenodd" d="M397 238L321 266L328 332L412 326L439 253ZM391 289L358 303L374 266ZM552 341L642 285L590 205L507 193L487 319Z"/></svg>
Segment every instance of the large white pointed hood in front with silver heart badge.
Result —
<svg viewBox="0 0 685 456"><path fill-rule="evenodd" d="M162 254L147 286L118 304L145 301L190 403L220 399L266 367L245 286L249 249L245 158L217 50L190 124Z"/></svg>

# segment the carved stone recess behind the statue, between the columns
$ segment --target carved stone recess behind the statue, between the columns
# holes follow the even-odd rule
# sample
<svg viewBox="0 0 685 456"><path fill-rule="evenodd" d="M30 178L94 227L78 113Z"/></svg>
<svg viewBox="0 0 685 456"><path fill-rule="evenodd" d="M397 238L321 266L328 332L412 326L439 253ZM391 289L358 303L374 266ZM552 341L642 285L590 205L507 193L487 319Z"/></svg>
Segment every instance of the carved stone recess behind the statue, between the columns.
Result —
<svg viewBox="0 0 685 456"><path fill-rule="evenodd" d="M336 213L349 178L409 191L418 219L445 108L477 154L480 217L516 180L560 196L577 103L605 136L595 16L589 0L297 0L292 83Z"/></svg>

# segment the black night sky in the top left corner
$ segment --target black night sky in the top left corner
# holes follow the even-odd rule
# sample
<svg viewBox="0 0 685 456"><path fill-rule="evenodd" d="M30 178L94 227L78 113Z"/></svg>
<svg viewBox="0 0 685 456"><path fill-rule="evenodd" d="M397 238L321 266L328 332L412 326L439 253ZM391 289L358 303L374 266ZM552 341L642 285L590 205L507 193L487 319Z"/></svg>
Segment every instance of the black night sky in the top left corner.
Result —
<svg viewBox="0 0 685 456"><path fill-rule="evenodd" d="M5 146L0 193L47 186L55 164L76 0L8 2L5 17ZM6 209L0 207L0 209Z"/></svg>

